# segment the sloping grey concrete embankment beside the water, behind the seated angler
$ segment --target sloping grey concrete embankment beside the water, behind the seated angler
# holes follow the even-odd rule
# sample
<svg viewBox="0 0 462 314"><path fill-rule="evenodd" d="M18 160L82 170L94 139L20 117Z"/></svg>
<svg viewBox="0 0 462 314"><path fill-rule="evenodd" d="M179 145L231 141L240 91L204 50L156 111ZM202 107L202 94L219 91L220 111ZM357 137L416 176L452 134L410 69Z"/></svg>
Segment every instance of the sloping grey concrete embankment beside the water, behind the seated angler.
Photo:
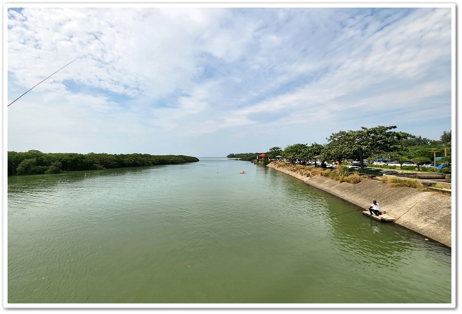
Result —
<svg viewBox="0 0 462 314"><path fill-rule="evenodd" d="M362 208L367 208L372 200L377 200L382 211L397 218L394 223L451 247L450 196L411 187L392 187L377 180L365 180L357 184L340 183L321 175L302 175L280 163L270 163L268 167Z"/></svg>

